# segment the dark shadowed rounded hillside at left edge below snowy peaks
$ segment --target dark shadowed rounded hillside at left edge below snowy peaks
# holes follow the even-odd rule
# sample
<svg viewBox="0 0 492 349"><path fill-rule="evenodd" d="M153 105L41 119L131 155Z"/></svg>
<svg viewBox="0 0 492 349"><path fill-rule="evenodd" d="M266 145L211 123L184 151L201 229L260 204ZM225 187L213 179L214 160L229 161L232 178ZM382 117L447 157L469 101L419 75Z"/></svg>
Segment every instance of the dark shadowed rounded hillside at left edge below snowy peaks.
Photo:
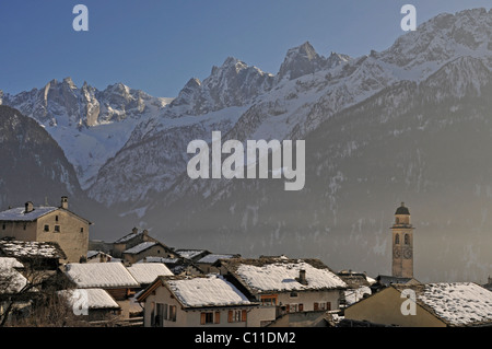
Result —
<svg viewBox="0 0 492 349"><path fill-rule="evenodd" d="M8 106L0 106L0 162L3 209L28 200L59 205L63 195L85 197L58 143L35 120Z"/></svg>

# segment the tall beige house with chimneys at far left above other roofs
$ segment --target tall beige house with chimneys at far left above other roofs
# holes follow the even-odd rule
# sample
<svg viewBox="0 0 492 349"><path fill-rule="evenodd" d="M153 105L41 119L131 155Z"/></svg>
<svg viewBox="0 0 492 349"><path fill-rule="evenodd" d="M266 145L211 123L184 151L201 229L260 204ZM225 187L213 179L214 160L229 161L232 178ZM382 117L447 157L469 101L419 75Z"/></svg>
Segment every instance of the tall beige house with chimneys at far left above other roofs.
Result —
<svg viewBox="0 0 492 349"><path fill-rule="evenodd" d="M68 263L79 263L87 256L89 220L68 209L68 197L61 197L60 207L24 207L0 212L0 239L16 241L55 242L61 247Z"/></svg>

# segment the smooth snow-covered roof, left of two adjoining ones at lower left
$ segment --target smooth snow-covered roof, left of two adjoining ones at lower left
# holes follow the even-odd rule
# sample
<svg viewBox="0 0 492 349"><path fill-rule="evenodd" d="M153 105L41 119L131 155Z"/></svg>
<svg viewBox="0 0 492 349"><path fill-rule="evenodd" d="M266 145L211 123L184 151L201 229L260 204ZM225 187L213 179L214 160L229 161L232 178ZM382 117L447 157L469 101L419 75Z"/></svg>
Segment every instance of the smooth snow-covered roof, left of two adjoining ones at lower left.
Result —
<svg viewBox="0 0 492 349"><path fill-rule="evenodd" d="M80 289L140 286L120 263L72 263L67 264L65 272Z"/></svg>

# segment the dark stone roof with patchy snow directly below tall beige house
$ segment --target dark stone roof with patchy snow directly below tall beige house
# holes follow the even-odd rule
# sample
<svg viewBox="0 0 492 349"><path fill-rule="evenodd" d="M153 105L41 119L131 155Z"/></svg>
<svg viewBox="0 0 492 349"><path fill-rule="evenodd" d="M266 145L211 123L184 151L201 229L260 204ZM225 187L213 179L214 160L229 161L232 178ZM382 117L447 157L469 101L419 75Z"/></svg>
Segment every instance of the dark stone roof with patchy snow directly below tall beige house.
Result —
<svg viewBox="0 0 492 349"><path fill-rule="evenodd" d="M0 249L15 258L66 258L63 251L55 242L0 241Z"/></svg>

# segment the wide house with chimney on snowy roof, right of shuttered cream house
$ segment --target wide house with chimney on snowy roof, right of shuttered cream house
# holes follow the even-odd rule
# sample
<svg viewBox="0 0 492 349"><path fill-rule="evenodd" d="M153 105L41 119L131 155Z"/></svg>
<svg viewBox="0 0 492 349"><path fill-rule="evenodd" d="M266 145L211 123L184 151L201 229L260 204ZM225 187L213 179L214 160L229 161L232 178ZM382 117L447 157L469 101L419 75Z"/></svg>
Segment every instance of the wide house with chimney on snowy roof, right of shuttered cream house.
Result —
<svg viewBox="0 0 492 349"><path fill-rule="evenodd" d="M339 310L347 289L319 259L236 258L221 259L220 264L225 278L249 300L273 310L261 319L261 326L294 313L318 312L323 316Z"/></svg>

